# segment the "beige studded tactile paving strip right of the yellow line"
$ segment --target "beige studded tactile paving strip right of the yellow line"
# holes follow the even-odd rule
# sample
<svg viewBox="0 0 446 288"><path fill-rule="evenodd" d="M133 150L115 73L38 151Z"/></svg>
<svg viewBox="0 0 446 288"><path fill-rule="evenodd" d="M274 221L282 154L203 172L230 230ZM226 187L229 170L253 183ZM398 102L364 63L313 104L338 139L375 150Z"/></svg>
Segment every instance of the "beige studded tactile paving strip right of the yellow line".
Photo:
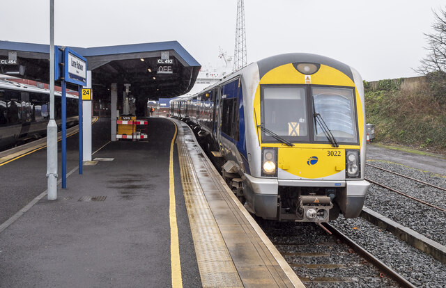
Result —
<svg viewBox="0 0 446 288"><path fill-rule="evenodd" d="M194 145L180 130L177 147L180 159L181 182L189 216L195 253L203 287L243 287L240 276L226 248L222 234L210 211L199 185L197 173L189 154ZM203 167L201 167L203 168Z"/></svg>

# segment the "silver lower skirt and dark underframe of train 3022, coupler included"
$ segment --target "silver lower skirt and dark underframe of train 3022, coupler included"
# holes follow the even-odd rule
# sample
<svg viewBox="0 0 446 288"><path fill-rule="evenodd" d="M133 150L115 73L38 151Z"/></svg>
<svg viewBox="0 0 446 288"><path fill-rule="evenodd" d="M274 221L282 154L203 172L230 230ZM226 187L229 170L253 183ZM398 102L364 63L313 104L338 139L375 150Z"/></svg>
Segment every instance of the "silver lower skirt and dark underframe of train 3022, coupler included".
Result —
<svg viewBox="0 0 446 288"><path fill-rule="evenodd" d="M369 188L369 183L360 179L348 180L343 187L321 187L281 186L277 179L240 177L224 168L222 176L252 214L275 221L323 223L339 214L355 218L362 211Z"/></svg>

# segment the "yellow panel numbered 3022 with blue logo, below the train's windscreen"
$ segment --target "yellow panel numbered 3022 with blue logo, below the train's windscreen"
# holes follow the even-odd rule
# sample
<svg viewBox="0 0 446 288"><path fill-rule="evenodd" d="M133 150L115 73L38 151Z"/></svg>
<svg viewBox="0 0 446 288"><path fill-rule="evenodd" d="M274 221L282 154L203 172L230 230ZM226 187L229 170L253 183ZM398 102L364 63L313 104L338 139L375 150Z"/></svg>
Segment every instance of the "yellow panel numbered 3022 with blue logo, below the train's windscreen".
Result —
<svg viewBox="0 0 446 288"><path fill-rule="evenodd" d="M278 166L298 178L328 177L345 169L344 149L279 148ZM281 177L282 178L282 177ZM295 177L289 177L295 179ZM282 178L283 179L283 178Z"/></svg>

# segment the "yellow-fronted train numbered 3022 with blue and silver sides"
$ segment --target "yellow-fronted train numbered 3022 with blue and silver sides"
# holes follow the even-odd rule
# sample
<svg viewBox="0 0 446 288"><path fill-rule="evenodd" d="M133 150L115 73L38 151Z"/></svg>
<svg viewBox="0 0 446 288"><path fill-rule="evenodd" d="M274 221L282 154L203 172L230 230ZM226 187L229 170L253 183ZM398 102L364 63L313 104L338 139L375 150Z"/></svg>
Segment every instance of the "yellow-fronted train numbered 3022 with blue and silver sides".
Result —
<svg viewBox="0 0 446 288"><path fill-rule="evenodd" d="M170 102L246 209L274 221L360 215L366 128L360 74L326 56L280 54Z"/></svg>

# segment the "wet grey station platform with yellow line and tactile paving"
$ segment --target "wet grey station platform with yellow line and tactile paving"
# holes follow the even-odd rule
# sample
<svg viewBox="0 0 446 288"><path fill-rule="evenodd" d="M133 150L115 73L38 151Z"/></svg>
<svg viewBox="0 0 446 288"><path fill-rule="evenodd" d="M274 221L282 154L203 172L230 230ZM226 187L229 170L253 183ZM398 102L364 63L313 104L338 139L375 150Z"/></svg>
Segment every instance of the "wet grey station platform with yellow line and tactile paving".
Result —
<svg viewBox="0 0 446 288"><path fill-rule="evenodd" d="M148 121L148 142L109 143L99 136L109 122L93 125L105 143L93 143L84 174L68 149L70 175L58 200L40 188L2 221L0 287L303 287L190 128ZM0 176L26 165L22 173L36 173L32 163L42 173L45 155L41 149L0 166ZM7 190L25 190L28 199L42 177L35 185L10 181Z"/></svg>

